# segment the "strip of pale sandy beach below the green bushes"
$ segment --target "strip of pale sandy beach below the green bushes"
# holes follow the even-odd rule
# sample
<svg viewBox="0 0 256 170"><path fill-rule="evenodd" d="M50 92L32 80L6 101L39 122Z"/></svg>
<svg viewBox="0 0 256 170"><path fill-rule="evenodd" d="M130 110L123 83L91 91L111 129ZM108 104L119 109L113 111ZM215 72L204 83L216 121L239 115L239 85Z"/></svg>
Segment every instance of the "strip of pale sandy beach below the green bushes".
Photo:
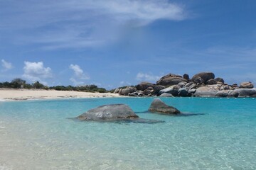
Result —
<svg viewBox="0 0 256 170"><path fill-rule="evenodd" d="M111 98L122 97L111 93L90 93L81 91L55 91L36 89L0 89L0 101L21 101L31 99L55 98Z"/></svg>

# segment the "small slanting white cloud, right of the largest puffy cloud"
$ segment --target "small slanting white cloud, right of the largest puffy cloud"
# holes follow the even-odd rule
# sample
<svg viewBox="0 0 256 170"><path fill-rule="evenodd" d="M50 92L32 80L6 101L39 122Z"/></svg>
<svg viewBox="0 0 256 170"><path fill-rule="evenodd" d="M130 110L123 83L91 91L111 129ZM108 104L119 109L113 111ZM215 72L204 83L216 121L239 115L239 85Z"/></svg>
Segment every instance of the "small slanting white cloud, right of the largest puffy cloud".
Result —
<svg viewBox="0 0 256 170"><path fill-rule="evenodd" d="M85 74L78 64L70 64L69 68L74 71L74 75L70 78L70 81L72 81L75 86L85 84L82 80L90 79L89 75Z"/></svg>

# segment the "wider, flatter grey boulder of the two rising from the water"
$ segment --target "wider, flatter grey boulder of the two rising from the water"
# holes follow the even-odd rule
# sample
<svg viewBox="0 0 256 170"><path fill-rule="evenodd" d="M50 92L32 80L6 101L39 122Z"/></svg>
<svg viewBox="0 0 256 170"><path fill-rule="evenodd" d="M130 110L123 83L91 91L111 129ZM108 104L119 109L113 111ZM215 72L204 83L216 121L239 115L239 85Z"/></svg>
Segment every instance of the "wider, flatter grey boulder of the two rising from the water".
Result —
<svg viewBox="0 0 256 170"><path fill-rule="evenodd" d="M77 117L79 120L126 120L137 119L138 115L125 104L112 104L92 108Z"/></svg>

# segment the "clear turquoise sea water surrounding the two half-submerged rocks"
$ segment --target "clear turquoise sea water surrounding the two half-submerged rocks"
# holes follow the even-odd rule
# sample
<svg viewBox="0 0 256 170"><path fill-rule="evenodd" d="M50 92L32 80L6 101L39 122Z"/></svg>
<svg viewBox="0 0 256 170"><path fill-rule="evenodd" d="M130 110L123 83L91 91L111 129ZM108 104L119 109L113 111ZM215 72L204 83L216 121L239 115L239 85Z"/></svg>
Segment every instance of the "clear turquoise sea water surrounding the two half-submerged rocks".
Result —
<svg viewBox="0 0 256 170"><path fill-rule="evenodd" d="M146 113L153 98L0 102L0 169L256 169L256 99L162 98L191 116ZM164 123L70 120L126 103Z"/></svg>

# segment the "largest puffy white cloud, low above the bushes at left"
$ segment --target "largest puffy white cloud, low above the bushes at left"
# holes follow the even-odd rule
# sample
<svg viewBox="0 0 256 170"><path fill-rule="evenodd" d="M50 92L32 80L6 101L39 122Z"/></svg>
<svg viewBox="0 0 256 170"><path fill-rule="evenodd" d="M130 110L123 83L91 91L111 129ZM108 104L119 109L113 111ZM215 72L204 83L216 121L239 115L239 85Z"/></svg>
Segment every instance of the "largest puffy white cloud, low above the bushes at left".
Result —
<svg viewBox="0 0 256 170"><path fill-rule="evenodd" d="M50 67L44 67L43 62L24 62L23 77L30 81L41 81L46 84L45 79L53 77Z"/></svg>

